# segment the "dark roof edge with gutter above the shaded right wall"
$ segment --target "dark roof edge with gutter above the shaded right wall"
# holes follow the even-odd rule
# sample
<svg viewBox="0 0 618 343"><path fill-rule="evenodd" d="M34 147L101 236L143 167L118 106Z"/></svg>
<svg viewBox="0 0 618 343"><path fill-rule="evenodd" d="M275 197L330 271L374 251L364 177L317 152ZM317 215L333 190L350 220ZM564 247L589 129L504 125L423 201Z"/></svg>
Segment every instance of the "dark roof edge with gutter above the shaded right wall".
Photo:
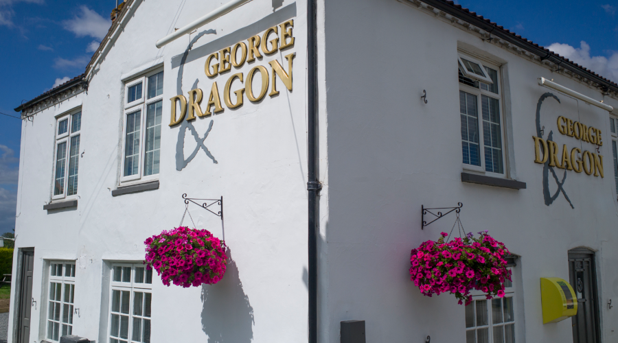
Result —
<svg viewBox="0 0 618 343"><path fill-rule="evenodd" d="M507 42L512 43L513 45L516 45L517 47L520 47L521 49L525 49L529 51L530 53L535 54L536 56L539 56L542 60L549 60L550 62L559 64L560 67L564 69L567 69L573 73L576 73L577 75L587 78L588 80L597 82L597 84L600 84L601 86L607 89L611 89L612 91L618 93L618 86L616 84L613 84L613 82L608 82L607 80L604 80L598 75L595 75L594 73L584 70L582 67L577 67L573 65L573 62L554 54L553 52L549 51L549 49L535 46L529 40L525 40L525 38L517 37L511 32L507 32L505 29L502 29L495 23L488 23L487 21L485 21L485 19L480 19L475 13L472 14L472 12L466 12L464 11L464 8L456 8L455 5L450 5L446 3L446 1L444 0L420 0L420 1L426 3L427 5L431 5L433 8L436 8L437 10L441 10L444 13L450 14L463 21L466 21L467 23L470 23L476 27L479 27L480 29L483 29L487 32L491 32L492 36L496 36L498 38L506 40Z"/></svg>

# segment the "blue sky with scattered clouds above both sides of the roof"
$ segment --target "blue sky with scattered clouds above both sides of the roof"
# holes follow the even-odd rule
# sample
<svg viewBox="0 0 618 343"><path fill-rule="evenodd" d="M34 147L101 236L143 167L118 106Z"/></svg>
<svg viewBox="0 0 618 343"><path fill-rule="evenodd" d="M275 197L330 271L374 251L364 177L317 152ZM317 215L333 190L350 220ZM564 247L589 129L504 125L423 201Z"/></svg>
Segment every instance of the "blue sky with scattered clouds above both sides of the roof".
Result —
<svg viewBox="0 0 618 343"><path fill-rule="evenodd" d="M618 82L616 0L457 2ZM115 0L0 0L0 113L18 115L13 108L23 100L80 75L114 6ZM14 227L20 136L21 121L0 115L0 233Z"/></svg>

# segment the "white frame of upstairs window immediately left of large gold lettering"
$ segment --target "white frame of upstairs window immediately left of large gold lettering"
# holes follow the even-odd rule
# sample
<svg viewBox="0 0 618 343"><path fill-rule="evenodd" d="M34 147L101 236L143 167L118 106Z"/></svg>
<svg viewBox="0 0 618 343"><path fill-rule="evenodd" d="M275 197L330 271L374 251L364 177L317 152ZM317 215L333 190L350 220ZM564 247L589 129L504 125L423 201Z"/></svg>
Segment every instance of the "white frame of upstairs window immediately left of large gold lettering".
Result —
<svg viewBox="0 0 618 343"><path fill-rule="evenodd" d="M155 102L161 101L161 106L163 106L163 93L161 95L157 95L152 97L152 99L146 99L148 97L148 78L152 75L157 75L161 73L163 68L157 68L154 71L148 71L148 73L141 75L129 82L126 82L124 87L124 112L123 112L123 128L122 128L122 151L120 155L120 185L128 186L133 184L139 184L143 182L150 182L159 180L159 174L161 173L161 169L159 169L159 173L145 176L144 175L144 163L146 160L146 119L148 113L148 105L153 104ZM163 80L165 80L165 73L163 73ZM139 84L141 82L141 99L135 100L134 102L128 103L128 88L130 86L135 86L135 84ZM125 163L125 151L126 151L126 129L127 129L127 116L137 111L141 111L140 117L140 126L139 126L139 156L137 158L138 167L137 174L124 176L124 163ZM161 120L161 128L163 128L163 120ZM161 130L161 134L163 134L163 130ZM159 147L160 149L161 147ZM160 160L159 160L160 161ZM160 166L160 165L159 165Z"/></svg>

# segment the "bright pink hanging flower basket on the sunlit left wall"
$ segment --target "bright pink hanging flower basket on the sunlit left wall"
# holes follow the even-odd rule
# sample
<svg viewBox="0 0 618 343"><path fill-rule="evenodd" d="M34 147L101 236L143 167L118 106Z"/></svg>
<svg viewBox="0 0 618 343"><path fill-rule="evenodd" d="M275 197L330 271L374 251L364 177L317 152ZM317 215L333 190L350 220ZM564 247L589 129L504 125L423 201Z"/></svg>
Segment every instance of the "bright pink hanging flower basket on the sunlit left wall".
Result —
<svg viewBox="0 0 618 343"><path fill-rule="evenodd" d="M208 230L179 226L146 241L146 268L154 269L164 285L199 287L218 283L225 274L225 242Z"/></svg>

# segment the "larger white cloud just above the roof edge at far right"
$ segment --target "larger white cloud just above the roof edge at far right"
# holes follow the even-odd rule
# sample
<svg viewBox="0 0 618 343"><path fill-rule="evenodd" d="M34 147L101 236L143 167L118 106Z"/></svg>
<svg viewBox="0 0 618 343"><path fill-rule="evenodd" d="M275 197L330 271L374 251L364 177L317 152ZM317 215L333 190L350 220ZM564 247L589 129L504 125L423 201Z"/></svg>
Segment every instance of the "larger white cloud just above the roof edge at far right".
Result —
<svg viewBox="0 0 618 343"><path fill-rule="evenodd" d="M582 40L580 47L568 44L553 43L547 49L569 58L573 62L594 71L595 73L616 82L618 80L618 51L613 51L609 58L605 56L590 56L590 45Z"/></svg>

